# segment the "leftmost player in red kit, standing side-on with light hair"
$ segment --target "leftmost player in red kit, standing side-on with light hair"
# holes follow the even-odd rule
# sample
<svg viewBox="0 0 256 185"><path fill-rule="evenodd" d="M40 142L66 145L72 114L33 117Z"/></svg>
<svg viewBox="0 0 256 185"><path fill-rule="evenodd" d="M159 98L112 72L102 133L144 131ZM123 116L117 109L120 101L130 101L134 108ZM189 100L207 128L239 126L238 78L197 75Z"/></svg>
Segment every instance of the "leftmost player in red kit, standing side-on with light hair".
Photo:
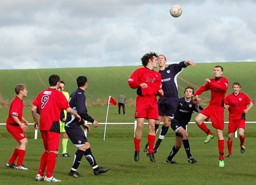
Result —
<svg viewBox="0 0 256 185"><path fill-rule="evenodd" d="M29 127L27 127L29 122L23 118L23 98L27 97L26 85L16 84L15 93L17 96L10 102L9 115L6 120L6 129L19 144L5 166L8 168L28 170L28 168L23 165L27 147L27 137L24 132L29 129ZM15 165L16 159L17 164Z"/></svg>

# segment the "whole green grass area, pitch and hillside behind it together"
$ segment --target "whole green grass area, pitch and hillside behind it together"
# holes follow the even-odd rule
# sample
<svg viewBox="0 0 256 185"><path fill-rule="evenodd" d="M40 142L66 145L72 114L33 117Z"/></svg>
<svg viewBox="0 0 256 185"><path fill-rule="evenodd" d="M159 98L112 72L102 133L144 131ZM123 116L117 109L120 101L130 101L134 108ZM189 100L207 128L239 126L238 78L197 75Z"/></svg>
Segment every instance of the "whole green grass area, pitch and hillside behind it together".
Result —
<svg viewBox="0 0 256 185"><path fill-rule="evenodd" d="M230 62L230 63L198 63L194 69L186 69L180 75L179 95L183 96L183 89L192 86L197 89L204 84L204 79L211 77L212 69L215 65L222 65L225 69L225 76L229 83L239 81L242 84L242 90L255 101L256 84L253 83L251 76L254 74L255 62ZM246 67L244 67L246 66ZM48 87L48 76L50 74L59 74L67 84L66 91L70 93L76 88L75 79L79 75L86 75L89 80L87 90L87 102L90 105L104 105L107 102L108 95L115 99L119 94L125 92L127 99L132 101L136 97L136 91L131 90L127 85L127 79L134 69L138 66L126 67L90 67L77 69L36 69L36 70L1 70L0 75L0 123L5 123L8 115L9 102L13 95L13 87L16 83L25 83L29 89L28 97L25 99L27 107L24 108L23 116L30 123L33 123L31 117L30 104L35 95ZM8 76L8 78L6 78ZM23 78L20 79L20 76ZM248 80L249 79L249 80ZM4 82L4 83L3 83ZM232 88L229 87L228 93ZM203 99L209 98L209 93L204 93ZM103 101L103 102L102 102ZM3 102L3 104L1 104ZM87 104L88 105L88 104ZM152 163L141 152L139 162L134 162L133 134L134 126L119 125L115 123L134 123L134 106L126 106L127 115L118 115L118 108L109 107L108 123L106 128L106 140L104 137L104 124L100 124L97 129L91 129L88 133L88 140L92 145L92 151L100 166L109 167L109 172L94 176L90 165L83 158L79 167L79 172L84 177L74 179L67 176L73 162L73 154L76 147L68 143L68 152L72 155L70 158L57 158L54 176L57 179L65 180L58 184L255 184L255 152L256 152L256 124L247 124L246 129L246 153L240 154L239 139L234 138L233 156L225 159L225 168L218 167L218 142L214 129L211 124L209 128L214 131L215 138L208 144L204 144L205 134L202 133L196 124L189 124L191 154L197 159L197 163L187 162L186 153L181 148L176 155L177 165L165 162L172 146L175 144L175 133L169 129L169 132L162 142L158 153L155 155L157 162ZM105 123L105 106L88 106L88 113L99 123ZM256 109L253 108L247 114L247 121L255 121ZM195 115L191 119L194 121ZM225 121L227 121L227 111L225 111ZM144 126L141 149L147 142L147 125ZM225 139L227 138L227 124L224 130ZM6 131L5 126L0 126L0 184L41 184L44 182L35 182L34 178L38 170L40 156L43 152L40 133L38 139L34 140L33 126L29 126L27 131L29 145L27 147L24 165L29 168L28 171L14 170L5 168L5 163L12 155L16 147L16 141ZM60 151L62 147L60 146ZM225 155L227 148L225 144Z"/></svg>

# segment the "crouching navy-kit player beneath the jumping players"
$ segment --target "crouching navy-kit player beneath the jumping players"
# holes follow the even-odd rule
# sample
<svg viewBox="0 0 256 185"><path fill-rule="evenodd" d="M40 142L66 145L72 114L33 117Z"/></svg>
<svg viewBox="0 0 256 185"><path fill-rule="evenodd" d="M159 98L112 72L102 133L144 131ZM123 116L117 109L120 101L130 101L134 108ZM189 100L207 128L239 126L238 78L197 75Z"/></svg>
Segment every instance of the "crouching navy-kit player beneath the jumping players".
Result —
<svg viewBox="0 0 256 185"><path fill-rule="evenodd" d="M176 163L173 157L177 154L180 147L182 147L182 143L187 154L187 161L190 163L197 162L190 153L189 134L186 131L186 126L190 122L192 113L199 113L202 110L197 100L192 100L193 95L194 88L188 86L184 90L184 97L179 98L175 116L170 122L170 127L176 132L176 143L172 147L168 158L166 158L166 162Z"/></svg>

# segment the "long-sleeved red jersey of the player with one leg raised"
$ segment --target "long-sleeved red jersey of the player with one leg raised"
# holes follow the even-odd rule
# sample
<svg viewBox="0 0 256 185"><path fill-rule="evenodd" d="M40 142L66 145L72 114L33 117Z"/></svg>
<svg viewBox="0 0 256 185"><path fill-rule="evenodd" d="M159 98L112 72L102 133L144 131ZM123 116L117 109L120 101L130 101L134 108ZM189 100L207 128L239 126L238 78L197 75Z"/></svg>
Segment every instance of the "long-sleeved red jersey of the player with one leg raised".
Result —
<svg viewBox="0 0 256 185"><path fill-rule="evenodd" d="M204 91L211 90L209 105L224 106L225 94L229 86L229 81L225 77L210 79L210 82L201 86L194 95L200 95Z"/></svg>

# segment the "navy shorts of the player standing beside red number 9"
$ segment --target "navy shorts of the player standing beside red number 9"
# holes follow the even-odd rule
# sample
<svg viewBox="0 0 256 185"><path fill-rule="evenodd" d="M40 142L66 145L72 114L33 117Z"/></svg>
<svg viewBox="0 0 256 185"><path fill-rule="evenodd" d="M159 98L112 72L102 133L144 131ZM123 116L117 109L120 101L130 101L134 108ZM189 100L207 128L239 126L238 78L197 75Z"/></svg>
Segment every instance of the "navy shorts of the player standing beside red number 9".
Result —
<svg viewBox="0 0 256 185"><path fill-rule="evenodd" d="M80 125L77 124L69 124L69 126L65 126L65 130L67 136L69 136L70 140L74 145L85 144L87 141L86 136L84 135L83 129L81 129Z"/></svg>

